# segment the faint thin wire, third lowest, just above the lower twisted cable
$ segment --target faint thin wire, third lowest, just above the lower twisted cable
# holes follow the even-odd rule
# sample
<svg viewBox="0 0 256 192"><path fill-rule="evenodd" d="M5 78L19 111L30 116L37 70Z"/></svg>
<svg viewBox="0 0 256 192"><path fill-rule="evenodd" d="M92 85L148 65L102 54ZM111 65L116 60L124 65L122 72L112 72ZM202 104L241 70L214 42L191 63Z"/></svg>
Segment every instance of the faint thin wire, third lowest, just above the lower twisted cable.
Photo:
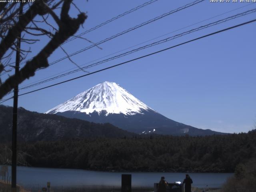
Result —
<svg viewBox="0 0 256 192"><path fill-rule="evenodd" d="M250 6L250 5L252 5L252 4L253 4L253 3L251 3L251 4L246 4L245 6L242 6L242 7L239 7L239 8L233 9L233 10L230 10L230 11L228 11L228 12L224 12L224 13L222 13L222 14L218 14L218 15L216 15L216 16L210 17L210 18L205 19L205 20L202 20L202 21L200 21L200 22L196 22L196 23L194 23L194 24L191 24L191 25L188 25L188 26L182 27L182 28L180 28L180 29L174 30L174 31L172 31L172 32L168 32L168 33L166 33L166 34L164 34L164 35L161 35L161 36L158 36L158 37L156 37L156 38L152 38L152 39L150 39L150 40L147 40L147 41L141 42L141 43L139 43L139 44L136 44L136 45L134 45L134 46L130 46L130 47L125 48L125 49L123 49L123 50L120 50L120 51L114 52L114 53L112 53L112 54L108 54L108 55L106 55L106 56L103 56L103 57L101 57L101 58L98 58L98 59L92 60L92 61L90 61L90 62L87 62L87 63L85 63L85 64L82 64L81 66L86 65L86 64L89 64L89 63L94 62L94 61L97 61L97 60L100 60L100 59L102 59L102 58L105 58L105 57L111 56L111 55L113 55L113 54L116 54L116 53L122 52L122 51L124 51L124 50L128 50L129 48L136 47L136 46L138 46L138 45L141 45L141 44L144 44L144 43L146 43L146 42L149 42L149 41L155 40L155 39L157 39L157 38L160 38L160 37L162 37L162 36L166 36L166 35L168 35L168 34L172 34L172 33L174 33L174 32L177 32L177 31L179 31L179 30L182 30L182 29L184 29L184 28L188 28L188 27L190 27L190 26L194 26L194 25L196 25L196 24L202 23L202 22L207 21L207 20L210 20L210 19L212 19L212 18L216 18L216 17L218 17L218 16L221 16L221 15L227 14L227 13L229 13L229 12L232 12L232 11L235 11L235 10L238 10L238 9L241 9L241 8L244 8L244 7L246 7L246 6ZM24 88L24 87L29 86L29 85L31 85L31 84L35 84L36 82L40 82L40 81L42 81L42 80L47 80L48 78L50 78L50 77L52 77L52 76L55 76L55 75L61 74L61 73L63 73L63 72L70 71L70 70L72 70L72 69L76 69L76 67L71 68L71 69L68 69L68 70L65 70L65 71L62 71L62 72L59 72L59 73L54 74L54 75L51 75L51 76L48 76L48 77L43 78L43 79L41 79L41 80L37 80L37 81L35 81L35 82L32 82L32 83L26 84L25 86L23 86L23 87L21 87L21 88Z"/></svg>

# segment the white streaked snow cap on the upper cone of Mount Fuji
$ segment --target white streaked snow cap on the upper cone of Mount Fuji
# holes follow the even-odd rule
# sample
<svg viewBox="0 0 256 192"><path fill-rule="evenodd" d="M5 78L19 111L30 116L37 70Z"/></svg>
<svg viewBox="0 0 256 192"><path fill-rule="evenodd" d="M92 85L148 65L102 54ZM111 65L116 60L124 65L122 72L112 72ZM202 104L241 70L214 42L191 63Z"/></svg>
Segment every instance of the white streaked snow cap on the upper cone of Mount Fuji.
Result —
<svg viewBox="0 0 256 192"><path fill-rule="evenodd" d="M114 82L100 83L74 98L48 110L46 113L55 114L65 111L80 111L86 114L106 110L110 113L134 115L141 110L152 110L146 104Z"/></svg>

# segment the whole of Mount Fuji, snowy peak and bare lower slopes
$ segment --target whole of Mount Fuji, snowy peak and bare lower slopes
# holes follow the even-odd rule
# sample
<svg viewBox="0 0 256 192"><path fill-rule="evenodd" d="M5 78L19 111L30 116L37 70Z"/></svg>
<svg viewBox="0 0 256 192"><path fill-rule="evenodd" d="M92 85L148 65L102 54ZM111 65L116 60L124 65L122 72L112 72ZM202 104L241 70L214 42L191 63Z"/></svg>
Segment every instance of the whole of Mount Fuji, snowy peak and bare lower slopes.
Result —
<svg viewBox="0 0 256 192"><path fill-rule="evenodd" d="M96 123L108 122L137 134L189 134L190 136L224 134L209 129L198 129L166 118L114 82L97 84L48 110L46 114L57 114Z"/></svg>

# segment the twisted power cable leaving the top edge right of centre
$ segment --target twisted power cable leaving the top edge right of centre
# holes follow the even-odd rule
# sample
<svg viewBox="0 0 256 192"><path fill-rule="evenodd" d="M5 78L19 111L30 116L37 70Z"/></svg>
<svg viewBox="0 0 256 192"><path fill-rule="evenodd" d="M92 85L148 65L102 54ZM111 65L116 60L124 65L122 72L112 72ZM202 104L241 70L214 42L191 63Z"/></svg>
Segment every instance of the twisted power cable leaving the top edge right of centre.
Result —
<svg viewBox="0 0 256 192"><path fill-rule="evenodd" d="M175 13L175 12L178 12L178 11L180 11L180 10L183 10L183 9L185 9L185 8L188 8L188 7L190 7L190 6L196 5L196 4L198 4L198 3L200 3L200 2L203 2L203 1L204 1L204 0L196 0L196 1L192 2L192 3L186 4L186 5L184 5L184 6L182 6L182 7L179 7L179 8L177 8L177 9L175 9L175 10L171 10L170 12L167 12L167 13L165 13L165 14L162 14L162 15L160 15L160 16L157 16L157 17L155 17L155 18L153 18L153 19L150 19L150 20L148 20L148 21L146 21L146 22L143 22L143 23L141 23L141 24L139 24L139 25L136 25L136 26L134 26L134 27L132 27L132 28L129 28L129 29L127 29L127 30L124 30L124 31L122 31L122 32L120 32L120 33L118 33L118 34L115 34L115 35L110 36L110 37L108 37L108 38L106 38L106 39L104 39L104 40L101 40L100 42L94 43L94 44L92 44L92 45L90 45L90 46L88 46L88 47L86 47L86 48L83 48L83 49L78 50L78 51L76 51L76 52L74 52L74 53L72 53L72 54L69 54L68 56L65 56L65 57L62 57L62 58L60 58L60 59L58 59L58 60L55 60L54 62L49 63L49 66L51 66L51 65L53 65L53 64L56 64L56 63L58 63L58 62L60 62L60 61L62 61L62 60L64 60L64 59L66 59L66 58L69 58L69 57L71 57L71 56L74 56L74 55L76 55L76 54L78 54L78 53L84 52L84 51L86 51L86 50L88 50L88 49L90 49L90 48L93 48L93 47L95 47L95 46L98 46L98 45L100 45L100 44L102 44L102 43L104 43L104 42L107 42L107 41L109 41L109 40L112 40L112 39L114 39L114 38L116 38L116 37L118 37L118 36L121 36L121 35L123 35L123 34L126 34L126 33L130 32L130 31L132 31L132 30L135 30L135 29L137 29L137 28L140 28L140 27L142 27L142 26L144 26L144 25L150 24L151 22L154 22L154 21L156 21L156 20L158 20L158 19L164 18L164 17L166 17L166 16L168 16L168 15L170 15L170 14L173 14L173 13ZM29 59L29 60L30 60L30 59ZM26 63L27 61L28 61L28 60L22 62L21 64L24 64L24 63ZM43 69L43 68L40 68L40 69L38 69L38 70L41 70L41 69ZM36 70L36 71L38 71L38 70Z"/></svg>

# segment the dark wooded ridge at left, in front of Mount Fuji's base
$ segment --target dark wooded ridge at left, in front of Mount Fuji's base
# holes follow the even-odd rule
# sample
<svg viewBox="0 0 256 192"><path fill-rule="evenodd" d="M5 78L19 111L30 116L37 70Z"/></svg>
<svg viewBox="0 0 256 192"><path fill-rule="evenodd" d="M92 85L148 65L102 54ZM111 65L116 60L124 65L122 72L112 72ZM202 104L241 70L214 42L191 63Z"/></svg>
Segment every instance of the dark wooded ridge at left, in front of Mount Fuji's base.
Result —
<svg viewBox="0 0 256 192"><path fill-rule="evenodd" d="M12 107L0 105L0 141L12 138ZM112 124L97 124L55 114L42 114L18 108L18 140L50 141L68 138L133 137Z"/></svg>

